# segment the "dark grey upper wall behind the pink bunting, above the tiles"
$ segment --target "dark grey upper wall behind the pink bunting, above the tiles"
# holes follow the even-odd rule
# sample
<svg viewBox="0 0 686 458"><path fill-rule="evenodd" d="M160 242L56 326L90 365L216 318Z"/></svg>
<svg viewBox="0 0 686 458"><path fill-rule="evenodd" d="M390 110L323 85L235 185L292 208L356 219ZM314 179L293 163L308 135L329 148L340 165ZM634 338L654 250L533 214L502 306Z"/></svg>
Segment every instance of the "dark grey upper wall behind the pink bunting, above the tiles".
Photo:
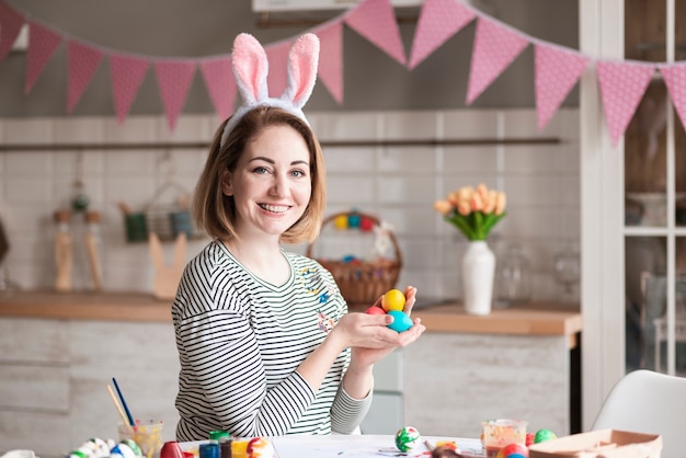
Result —
<svg viewBox="0 0 686 458"><path fill-rule="evenodd" d="M262 43L295 36L311 27L258 27L250 0L7 0L68 36L148 57L204 57L230 51L240 32ZM530 36L578 48L574 0L480 0L476 5ZM414 23L400 25L410 54ZM465 106L475 22L409 71L354 31L344 27L344 103L339 106L317 84L310 111L451 110ZM475 107L533 107L534 53L527 49L472 104ZM62 44L30 94L24 94L25 54L0 64L0 117L67 116L67 51ZM576 89L564 106L578 105ZM183 113L211 113L196 72ZM163 112L152 71L148 71L130 115ZM114 114L110 73L103 61L72 115Z"/></svg>

